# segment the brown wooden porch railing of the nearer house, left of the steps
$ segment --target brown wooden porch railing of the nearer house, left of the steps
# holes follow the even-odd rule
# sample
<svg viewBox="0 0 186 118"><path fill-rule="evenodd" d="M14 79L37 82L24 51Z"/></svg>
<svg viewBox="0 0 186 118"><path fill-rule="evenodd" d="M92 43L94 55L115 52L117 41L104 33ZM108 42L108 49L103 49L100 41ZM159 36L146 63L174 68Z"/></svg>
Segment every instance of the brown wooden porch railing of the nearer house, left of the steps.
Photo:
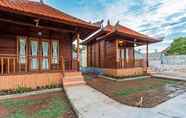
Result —
<svg viewBox="0 0 186 118"><path fill-rule="evenodd" d="M42 60L42 57L37 57L38 60ZM16 55L0 55L0 75L4 74L17 74L17 73L31 73L31 72L52 72L52 71L65 71L64 58L61 57L58 64L51 64L49 61L49 68L42 69L41 63L39 63L39 68L37 70L31 69L32 57L28 56L24 64L19 63L18 57Z"/></svg>

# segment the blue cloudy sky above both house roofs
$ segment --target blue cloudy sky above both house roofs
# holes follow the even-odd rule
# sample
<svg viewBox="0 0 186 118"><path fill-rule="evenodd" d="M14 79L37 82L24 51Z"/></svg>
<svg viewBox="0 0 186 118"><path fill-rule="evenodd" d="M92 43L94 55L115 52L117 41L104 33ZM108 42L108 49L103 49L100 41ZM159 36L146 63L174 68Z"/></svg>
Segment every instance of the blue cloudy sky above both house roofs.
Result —
<svg viewBox="0 0 186 118"><path fill-rule="evenodd" d="M170 46L176 37L186 36L186 0L44 0L70 15L96 22L108 20L146 35L162 38L150 45L151 52ZM144 48L144 47L142 47Z"/></svg>

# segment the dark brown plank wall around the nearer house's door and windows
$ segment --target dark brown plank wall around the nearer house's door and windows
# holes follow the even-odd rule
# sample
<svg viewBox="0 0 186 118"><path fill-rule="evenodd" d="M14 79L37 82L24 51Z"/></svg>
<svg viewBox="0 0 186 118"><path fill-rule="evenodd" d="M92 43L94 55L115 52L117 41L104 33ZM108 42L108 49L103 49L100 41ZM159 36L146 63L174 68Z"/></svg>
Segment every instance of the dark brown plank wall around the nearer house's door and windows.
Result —
<svg viewBox="0 0 186 118"><path fill-rule="evenodd" d="M6 27L8 26L8 27ZM60 57L63 56L68 63L72 62L72 34L65 32L54 32L49 30L41 30L38 28L30 28L15 24L6 24L0 22L0 55L16 55L17 54L17 37L26 36L33 37L37 40L59 40ZM6 27L6 28L5 28ZM42 32L42 36L38 35ZM60 58L61 63L61 58ZM71 64L68 64L71 65Z"/></svg>

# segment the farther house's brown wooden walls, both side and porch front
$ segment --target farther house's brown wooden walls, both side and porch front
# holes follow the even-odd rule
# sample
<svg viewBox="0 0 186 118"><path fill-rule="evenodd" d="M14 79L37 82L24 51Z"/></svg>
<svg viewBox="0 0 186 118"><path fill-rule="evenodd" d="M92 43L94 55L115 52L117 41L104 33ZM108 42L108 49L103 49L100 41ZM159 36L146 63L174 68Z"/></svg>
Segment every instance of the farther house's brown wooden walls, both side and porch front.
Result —
<svg viewBox="0 0 186 118"><path fill-rule="evenodd" d="M118 47L118 40L106 41L101 40L87 45L87 66L98 68L121 68L121 50L128 49L128 59L123 62L130 66L134 66L134 46L133 44L127 44L127 46ZM119 53L118 53L119 52ZM126 52L126 51L125 51ZM124 56L126 58L126 55ZM118 59L119 56L119 59Z"/></svg>

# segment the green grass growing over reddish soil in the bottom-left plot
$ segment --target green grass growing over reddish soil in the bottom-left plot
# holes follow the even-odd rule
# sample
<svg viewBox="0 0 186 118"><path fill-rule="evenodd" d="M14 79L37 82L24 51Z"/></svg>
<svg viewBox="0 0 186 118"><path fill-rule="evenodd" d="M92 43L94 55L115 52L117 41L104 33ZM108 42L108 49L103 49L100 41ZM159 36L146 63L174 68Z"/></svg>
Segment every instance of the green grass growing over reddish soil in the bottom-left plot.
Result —
<svg viewBox="0 0 186 118"><path fill-rule="evenodd" d="M28 106L42 104L43 102L47 102L47 108L39 109L32 115L26 111ZM6 118L61 118L65 112L70 110L67 101L59 96L54 96L51 100L5 100L0 101L0 105L9 111Z"/></svg>

